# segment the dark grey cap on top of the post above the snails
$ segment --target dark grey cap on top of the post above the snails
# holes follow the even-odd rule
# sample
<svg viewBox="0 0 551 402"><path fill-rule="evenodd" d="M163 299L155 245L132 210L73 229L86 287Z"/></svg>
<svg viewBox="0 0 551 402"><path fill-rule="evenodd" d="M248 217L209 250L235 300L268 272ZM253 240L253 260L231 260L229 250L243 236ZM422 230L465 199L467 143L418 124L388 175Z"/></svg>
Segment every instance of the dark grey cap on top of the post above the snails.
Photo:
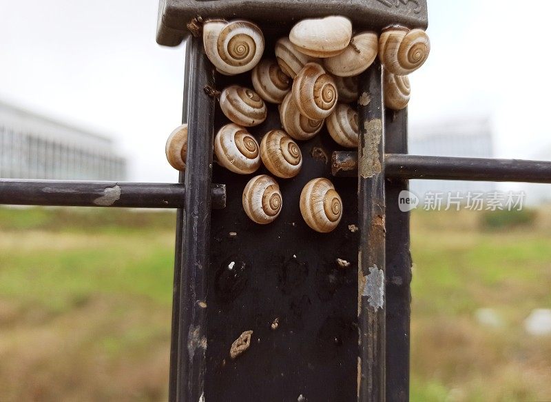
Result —
<svg viewBox="0 0 551 402"><path fill-rule="evenodd" d="M178 46L189 35L187 25L202 19L250 19L265 25L264 36L289 34L304 18L340 14L352 20L356 30L382 30L399 23L408 28L426 28L426 0L161 0L157 42Z"/></svg>

